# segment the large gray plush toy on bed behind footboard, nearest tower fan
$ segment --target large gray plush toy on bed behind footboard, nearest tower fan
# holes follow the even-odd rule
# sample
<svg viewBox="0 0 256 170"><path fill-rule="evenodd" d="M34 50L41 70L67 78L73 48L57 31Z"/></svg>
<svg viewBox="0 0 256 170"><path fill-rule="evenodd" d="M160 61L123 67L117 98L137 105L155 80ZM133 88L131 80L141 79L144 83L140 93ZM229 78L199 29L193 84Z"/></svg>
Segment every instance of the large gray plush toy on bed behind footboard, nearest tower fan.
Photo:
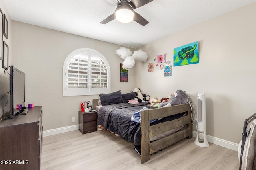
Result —
<svg viewBox="0 0 256 170"><path fill-rule="evenodd" d="M168 102L163 102L159 104L158 108L164 107L168 103L171 104L171 106L178 105L178 104L185 104L189 102L188 94L186 94L185 91L177 90L168 100Z"/></svg>

